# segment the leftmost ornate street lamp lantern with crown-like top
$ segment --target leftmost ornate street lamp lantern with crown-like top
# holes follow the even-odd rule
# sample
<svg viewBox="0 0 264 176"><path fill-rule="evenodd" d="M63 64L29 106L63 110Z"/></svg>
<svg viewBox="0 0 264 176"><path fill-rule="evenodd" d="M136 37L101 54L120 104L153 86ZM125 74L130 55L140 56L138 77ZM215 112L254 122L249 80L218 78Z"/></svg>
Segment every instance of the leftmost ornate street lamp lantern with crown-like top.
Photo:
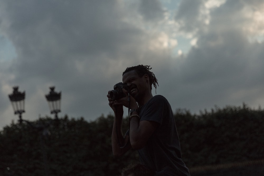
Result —
<svg viewBox="0 0 264 176"><path fill-rule="evenodd" d="M13 87L13 93L9 94L9 99L13 106L15 114L19 114L19 122L22 123L22 113L25 112L25 91L18 91L18 86Z"/></svg>

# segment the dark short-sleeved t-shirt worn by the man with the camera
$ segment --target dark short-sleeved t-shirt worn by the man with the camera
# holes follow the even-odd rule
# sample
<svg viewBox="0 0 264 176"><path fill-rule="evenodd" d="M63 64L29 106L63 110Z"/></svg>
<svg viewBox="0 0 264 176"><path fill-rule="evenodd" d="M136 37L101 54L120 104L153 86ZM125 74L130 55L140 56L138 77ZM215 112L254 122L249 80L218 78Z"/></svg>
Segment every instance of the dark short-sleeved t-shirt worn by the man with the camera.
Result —
<svg viewBox="0 0 264 176"><path fill-rule="evenodd" d="M155 121L159 126L144 148L139 149L140 162L157 175L190 175L182 161L179 137L171 106L156 95L139 108L140 121Z"/></svg>

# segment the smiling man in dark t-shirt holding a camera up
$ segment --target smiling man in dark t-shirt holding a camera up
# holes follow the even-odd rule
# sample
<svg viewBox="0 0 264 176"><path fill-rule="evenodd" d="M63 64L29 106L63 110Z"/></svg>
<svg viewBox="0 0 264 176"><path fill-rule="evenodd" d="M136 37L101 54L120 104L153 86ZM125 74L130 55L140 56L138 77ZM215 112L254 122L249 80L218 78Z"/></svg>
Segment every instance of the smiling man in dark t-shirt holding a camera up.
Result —
<svg viewBox="0 0 264 176"><path fill-rule="evenodd" d="M138 65L127 68L123 83L126 97L113 101L108 94L109 106L115 113L112 131L112 150L121 156L129 149L138 150L140 162L156 175L190 175L182 160L180 142L167 99L161 95L153 97L152 84L158 82L149 66ZM109 92L108 92L109 93ZM123 106L131 109L129 131L122 134Z"/></svg>

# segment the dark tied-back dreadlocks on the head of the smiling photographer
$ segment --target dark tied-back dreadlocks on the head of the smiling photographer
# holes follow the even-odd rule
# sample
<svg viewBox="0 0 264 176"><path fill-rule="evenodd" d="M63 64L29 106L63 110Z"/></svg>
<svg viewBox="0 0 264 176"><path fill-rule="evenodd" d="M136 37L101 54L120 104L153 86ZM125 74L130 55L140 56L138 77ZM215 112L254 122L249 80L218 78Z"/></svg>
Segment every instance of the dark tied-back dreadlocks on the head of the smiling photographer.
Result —
<svg viewBox="0 0 264 176"><path fill-rule="evenodd" d="M135 70L136 73L138 73L139 77L143 77L145 74L148 75L149 77L149 85L150 85L150 90L152 90L152 84L155 87L155 90L157 89L157 85L158 84L158 80L155 77L153 72L150 72L149 70L151 70L152 68L149 68L149 65L138 65L138 66L132 66L132 67L128 67L126 68L126 70L123 72L123 76L125 73L130 72Z"/></svg>

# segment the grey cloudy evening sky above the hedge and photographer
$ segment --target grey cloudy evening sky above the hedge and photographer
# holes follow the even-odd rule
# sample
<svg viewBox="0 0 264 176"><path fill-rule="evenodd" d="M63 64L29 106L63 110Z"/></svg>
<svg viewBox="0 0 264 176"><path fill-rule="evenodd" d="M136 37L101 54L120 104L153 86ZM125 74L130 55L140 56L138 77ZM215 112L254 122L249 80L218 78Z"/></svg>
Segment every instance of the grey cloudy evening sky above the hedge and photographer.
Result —
<svg viewBox="0 0 264 176"><path fill-rule="evenodd" d="M263 108L263 36L262 0L0 0L0 128L18 119L13 86L27 120L50 115L50 86L59 116L108 115L107 92L139 64L173 111Z"/></svg>

